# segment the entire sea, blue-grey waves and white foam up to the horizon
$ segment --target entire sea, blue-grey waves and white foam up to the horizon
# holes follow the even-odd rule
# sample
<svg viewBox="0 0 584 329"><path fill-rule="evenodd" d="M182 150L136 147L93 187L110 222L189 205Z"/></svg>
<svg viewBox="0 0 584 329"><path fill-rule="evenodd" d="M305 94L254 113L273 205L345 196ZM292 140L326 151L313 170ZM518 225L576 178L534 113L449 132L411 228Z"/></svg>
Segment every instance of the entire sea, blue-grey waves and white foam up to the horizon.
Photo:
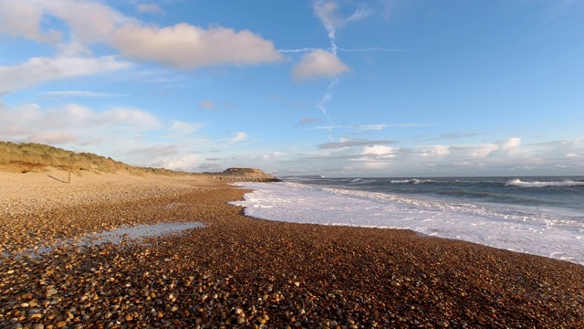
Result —
<svg viewBox="0 0 584 329"><path fill-rule="evenodd" d="M584 176L286 177L253 189L253 218L404 228L584 265Z"/></svg>

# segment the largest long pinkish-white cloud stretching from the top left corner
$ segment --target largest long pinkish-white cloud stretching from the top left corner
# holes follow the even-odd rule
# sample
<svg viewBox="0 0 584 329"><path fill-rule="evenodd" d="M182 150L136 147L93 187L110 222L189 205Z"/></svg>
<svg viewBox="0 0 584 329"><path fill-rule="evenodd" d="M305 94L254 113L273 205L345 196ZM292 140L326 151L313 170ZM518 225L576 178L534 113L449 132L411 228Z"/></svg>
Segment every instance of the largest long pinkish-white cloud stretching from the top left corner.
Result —
<svg viewBox="0 0 584 329"><path fill-rule="evenodd" d="M142 6L154 10L154 6ZM41 21L57 17L71 28L70 35L84 43L104 42L128 58L157 62L175 68L201 68L232 64L274 62L282 55L271 41L249 30L224 27L194 27L181 23L172 27L147 26L124 16L108 5L89 1L0 2L0 29L14 37L57 42L56 31L45 32ZM16 17L16 18L12 18Z"/></svg>

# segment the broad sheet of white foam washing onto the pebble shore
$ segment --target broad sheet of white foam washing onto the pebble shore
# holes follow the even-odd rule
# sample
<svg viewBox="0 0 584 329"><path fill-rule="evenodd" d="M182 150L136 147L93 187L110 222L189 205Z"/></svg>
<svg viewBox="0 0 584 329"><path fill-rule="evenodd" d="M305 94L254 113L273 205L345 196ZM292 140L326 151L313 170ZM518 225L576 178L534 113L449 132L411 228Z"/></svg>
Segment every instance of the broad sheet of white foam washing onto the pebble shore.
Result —
<svg viewBox="0 0 584 329"><path fill-rule="evenodd" d="M321 225L401 228L584 265L584 223L522 207L483 207L297 183L237 184L253 218Z"/></svg>

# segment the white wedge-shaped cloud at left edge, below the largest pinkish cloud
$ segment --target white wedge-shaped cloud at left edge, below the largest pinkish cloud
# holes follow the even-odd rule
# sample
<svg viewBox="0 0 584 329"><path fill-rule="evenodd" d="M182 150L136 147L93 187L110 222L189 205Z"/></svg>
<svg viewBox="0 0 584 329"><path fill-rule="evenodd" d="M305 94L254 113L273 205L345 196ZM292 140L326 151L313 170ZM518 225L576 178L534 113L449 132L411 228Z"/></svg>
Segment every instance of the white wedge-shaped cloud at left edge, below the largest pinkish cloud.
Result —
<svg viewBox="0 0 584 329"><path fill-rule="evenodd" d="M70 79L130 67L115 57L30 58L16 66L0 66L0 94L35 86L48 80Z"/></svg>

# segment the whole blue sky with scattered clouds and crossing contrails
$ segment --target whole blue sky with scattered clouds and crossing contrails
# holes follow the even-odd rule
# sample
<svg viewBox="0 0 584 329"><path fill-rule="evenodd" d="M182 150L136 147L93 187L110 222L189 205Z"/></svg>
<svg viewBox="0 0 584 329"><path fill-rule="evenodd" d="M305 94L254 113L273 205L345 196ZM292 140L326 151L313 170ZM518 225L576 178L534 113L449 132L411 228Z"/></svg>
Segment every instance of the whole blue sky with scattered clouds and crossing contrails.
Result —
<svg viewBox="0 0 584 329"><path fill-rule="evenodd" d="M0 0L0 140L189 172L584 175L584 1Z"/></svg>

